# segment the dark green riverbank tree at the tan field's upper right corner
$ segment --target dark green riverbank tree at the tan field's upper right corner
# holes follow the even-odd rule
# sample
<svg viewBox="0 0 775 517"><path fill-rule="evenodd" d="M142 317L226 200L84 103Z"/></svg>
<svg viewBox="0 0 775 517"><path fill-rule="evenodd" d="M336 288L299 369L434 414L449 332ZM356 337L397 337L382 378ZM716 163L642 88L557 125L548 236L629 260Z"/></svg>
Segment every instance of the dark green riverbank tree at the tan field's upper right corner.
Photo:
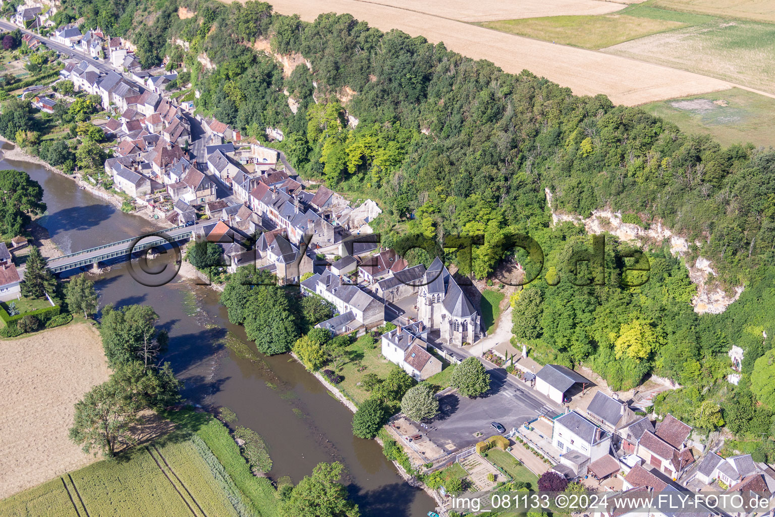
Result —
<svg viewBox="0 0 775 517"><path fill-rule="evenodd" d="M158 330L159 315L148 305L127 305L102 312L102 346L111 367L140 360L145 367L167 349L167 332Z"/></svg>

